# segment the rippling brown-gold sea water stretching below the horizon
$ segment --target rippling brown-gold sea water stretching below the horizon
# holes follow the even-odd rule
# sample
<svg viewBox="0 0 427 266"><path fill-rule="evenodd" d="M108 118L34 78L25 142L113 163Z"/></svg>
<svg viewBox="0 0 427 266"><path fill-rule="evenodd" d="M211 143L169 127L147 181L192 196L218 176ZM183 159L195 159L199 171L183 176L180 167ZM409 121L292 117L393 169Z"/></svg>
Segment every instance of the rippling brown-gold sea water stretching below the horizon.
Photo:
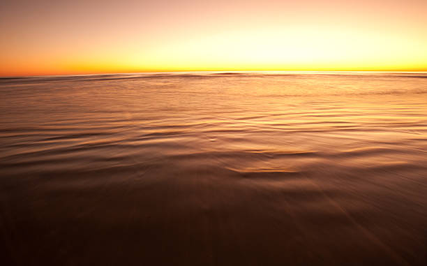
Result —
<svg viewBox="0 0 427 266"><path fill-rule="evenodd" d="M426 73L0 79L5 265L426 265Z"/></svg>

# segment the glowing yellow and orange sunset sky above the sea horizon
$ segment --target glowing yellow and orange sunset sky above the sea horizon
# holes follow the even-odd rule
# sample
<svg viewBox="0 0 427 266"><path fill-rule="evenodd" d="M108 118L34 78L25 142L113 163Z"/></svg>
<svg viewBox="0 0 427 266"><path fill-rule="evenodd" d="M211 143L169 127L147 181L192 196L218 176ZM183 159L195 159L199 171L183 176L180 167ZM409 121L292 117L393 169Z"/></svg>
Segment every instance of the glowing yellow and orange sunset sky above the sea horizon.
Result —
<svg viewBox="0 0 427 266"><path fill-rule="evenodd" d="M0 76L427 71L426 0L3 0Z"/></svg>

